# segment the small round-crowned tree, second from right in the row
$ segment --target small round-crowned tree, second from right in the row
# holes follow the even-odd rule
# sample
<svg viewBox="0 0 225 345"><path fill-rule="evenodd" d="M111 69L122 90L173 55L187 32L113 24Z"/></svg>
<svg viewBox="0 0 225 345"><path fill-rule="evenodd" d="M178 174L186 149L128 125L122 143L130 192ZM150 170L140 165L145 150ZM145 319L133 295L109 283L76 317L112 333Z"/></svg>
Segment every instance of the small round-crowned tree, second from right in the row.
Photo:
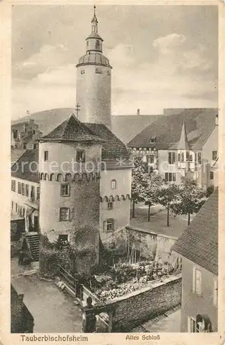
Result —
<svg viewBox="0 0 225 345"><path fill-rule="evenodd" d="M156 201L158 204L164 206L167 210L167 226L170 226L170 208L179 195L179 188L176 184L170 184L169 186L163 186L159 189Z"/></svg>

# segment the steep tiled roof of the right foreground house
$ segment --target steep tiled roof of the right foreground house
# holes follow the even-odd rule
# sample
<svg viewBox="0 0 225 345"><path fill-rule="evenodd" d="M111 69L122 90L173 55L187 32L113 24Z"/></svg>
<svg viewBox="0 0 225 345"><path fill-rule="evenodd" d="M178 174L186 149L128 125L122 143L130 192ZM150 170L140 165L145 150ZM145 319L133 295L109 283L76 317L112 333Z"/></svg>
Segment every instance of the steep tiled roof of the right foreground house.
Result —
<svg viewBox="0 0 225 345"><path fill-rule="evenodd" d="M218 188L177 239L172 250L218 274Z"/></svg>

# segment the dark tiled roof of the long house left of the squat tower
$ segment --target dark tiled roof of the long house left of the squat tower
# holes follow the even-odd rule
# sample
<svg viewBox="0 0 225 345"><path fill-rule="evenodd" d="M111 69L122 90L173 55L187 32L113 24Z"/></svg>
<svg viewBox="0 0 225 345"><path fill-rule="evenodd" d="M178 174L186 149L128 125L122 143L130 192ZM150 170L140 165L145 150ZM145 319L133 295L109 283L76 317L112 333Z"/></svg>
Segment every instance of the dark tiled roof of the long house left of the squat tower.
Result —
<svg viewBox="0 0 225 345"><path fill-rule="evenodd" d="M11 175L19 179L38 182L39 150L26 150L12 165Z"/></svg>

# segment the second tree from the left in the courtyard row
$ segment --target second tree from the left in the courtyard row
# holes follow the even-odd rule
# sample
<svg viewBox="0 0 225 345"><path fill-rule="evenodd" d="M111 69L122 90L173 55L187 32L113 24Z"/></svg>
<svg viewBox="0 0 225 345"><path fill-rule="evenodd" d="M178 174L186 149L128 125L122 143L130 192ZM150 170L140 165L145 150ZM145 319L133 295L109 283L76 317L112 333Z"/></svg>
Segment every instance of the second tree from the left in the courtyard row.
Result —
<svg viewBox="0 0 225 345"><path fill-rule="evenodd" d="M150 207L157 202L157 193L162 187L162 177L155 172L148 172L144 175L143 186L142 197L145 205L148 205L148 221L150 221Z"/></svg>

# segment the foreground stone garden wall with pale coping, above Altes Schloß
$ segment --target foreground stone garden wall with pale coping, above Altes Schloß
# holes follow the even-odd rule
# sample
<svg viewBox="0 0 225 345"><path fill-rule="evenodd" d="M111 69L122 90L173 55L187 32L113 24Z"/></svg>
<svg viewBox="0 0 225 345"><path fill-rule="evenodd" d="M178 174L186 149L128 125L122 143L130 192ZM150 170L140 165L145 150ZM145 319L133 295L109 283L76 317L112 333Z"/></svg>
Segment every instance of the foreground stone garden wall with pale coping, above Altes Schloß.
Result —
<svg viewBox="0 0 225 345"><path fill-rule="evenodd" d="M113 331L126 332L181 302L182 277L177 275L155 283L152 288L142 288L107 304L115 304Z"/></svg>

